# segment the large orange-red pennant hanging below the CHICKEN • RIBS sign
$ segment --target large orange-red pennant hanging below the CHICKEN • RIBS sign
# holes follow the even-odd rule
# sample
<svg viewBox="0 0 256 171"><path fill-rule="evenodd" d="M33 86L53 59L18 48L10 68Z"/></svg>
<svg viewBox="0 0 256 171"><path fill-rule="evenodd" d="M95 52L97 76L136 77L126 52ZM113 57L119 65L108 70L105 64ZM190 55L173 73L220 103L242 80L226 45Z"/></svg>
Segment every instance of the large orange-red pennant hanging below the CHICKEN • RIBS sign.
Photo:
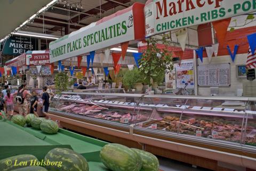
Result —
<svg viewBox="0 0 256 171"><path fill-rule="evenodd" d="M231 18L212 22L213 28L216 31L216 36L220 44L223 43L226 38L227 29L230 21Z"/></svg>

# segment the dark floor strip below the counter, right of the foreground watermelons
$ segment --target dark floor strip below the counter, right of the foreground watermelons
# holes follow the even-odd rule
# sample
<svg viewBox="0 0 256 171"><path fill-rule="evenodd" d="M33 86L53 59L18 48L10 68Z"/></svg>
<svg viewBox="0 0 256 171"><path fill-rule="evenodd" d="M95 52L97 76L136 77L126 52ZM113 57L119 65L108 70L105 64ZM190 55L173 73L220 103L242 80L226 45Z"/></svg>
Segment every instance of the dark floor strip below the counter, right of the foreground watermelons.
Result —
<svg viewBox="0 0 256 171"><path fill-rule="evenodd" d="M160 169L164 171L211 171L205 168L194 168L192 165L185 164L183 162L158 157Z"/></svg>

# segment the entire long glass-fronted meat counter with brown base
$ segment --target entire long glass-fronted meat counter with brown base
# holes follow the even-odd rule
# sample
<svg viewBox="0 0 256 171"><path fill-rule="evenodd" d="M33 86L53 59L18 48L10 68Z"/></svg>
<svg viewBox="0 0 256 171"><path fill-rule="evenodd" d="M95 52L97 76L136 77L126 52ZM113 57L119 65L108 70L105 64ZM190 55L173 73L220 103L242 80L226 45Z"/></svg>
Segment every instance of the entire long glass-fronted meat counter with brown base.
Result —
<svg viewBox="0 0 256 171"><path fill-rule="evenodd" d="M49 114L64 128L158 156L256 169L255 104L253 97L62 92Z"/></svg>

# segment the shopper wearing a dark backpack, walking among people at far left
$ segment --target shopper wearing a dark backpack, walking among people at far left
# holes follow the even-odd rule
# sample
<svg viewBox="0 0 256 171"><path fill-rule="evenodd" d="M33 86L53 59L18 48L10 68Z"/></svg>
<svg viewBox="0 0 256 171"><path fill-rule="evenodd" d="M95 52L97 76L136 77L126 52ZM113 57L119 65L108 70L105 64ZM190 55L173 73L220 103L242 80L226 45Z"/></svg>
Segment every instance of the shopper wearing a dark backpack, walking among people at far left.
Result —
<svg viewBox="0 0 256 171"><path fill-rule="evenodd" d="M15 99L18 103L19 114L26 116L28 114L28 101L27 97L31 96L31 94L26 90L26 84L22 84L19 87L18 92L14 93L16 95Z"/></svg>

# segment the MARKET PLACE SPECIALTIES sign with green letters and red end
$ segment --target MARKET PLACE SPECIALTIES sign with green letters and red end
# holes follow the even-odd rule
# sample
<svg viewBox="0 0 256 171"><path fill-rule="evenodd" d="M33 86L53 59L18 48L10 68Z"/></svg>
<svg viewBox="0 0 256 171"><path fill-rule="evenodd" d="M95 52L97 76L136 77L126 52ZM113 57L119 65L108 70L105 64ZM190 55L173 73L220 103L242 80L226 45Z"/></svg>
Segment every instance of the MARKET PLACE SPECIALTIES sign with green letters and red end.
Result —
<svg viewBox="0 0 256 171"><path fill-rule="evenodd" d="M134 3L50 43L50 62L145 38L144 4Z"/></svg>

